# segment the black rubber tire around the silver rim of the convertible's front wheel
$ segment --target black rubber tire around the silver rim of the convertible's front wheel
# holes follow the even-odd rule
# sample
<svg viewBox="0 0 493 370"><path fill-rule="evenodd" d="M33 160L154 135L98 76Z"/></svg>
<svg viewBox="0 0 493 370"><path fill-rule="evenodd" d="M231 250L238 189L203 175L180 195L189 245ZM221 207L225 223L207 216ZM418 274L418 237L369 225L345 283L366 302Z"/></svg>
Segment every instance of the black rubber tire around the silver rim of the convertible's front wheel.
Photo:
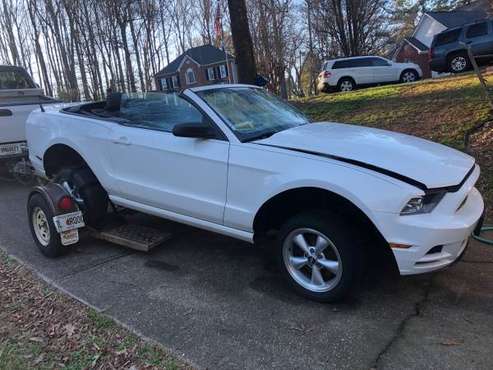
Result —
<svg viewBox="0 0 493 370"><path fill-rule="evenodd" d="M296 248L296 243L291 242L292 235L295 235L299 230L306 229L315 230L326 236L329 241L332 242L332 245L326 247L320 256L323 256L323 260L329 260L330 262L333 262L331 260L338 258L338 265L339 267L342 267L340 270L340 275L339 270L336 274L334 272L329 272L329 270L324 270L324 267L320 267L321 265L319 265L319 263L322 260L322 257L317 259L315 262L308 262L309 264L304 265L299 269L293 268L293 266L287 262L290 257L286 256L291 256L290 252L287 251L290 248L294 251ZM314 235L314 237L317 236ZM363 249L361 243L355 239L355 233L354 230L351 229L351 223L349 221L345 222L344 217L339 214L327 211L313 211L298 214L297 216L289 219L282 226L278 235L277 254L282 273L289 284L304 297L319 302L336 302L353 291L355 283L361 276ZM313 244L313 242L311 244ZM293 247L290 247L291 245ZM299 248L298 252L300 251L301 248ZM330 253L332 253L335 257L329 256ZM306 255L304 257L306 258ZM298 272L304 276L305 272L307 272L307 275L310 275L311 271L311 279L313 279L312 269L314 266L310 265L310 263L317 265L317 268L320 268L319 271L323 270L322 275L328 277L327 280L329 282L334 281L333 286L326 291L315 291L318 288L309 289L306 287L306 284L303 285L302 283L299 283L297 278L295 278L295 275ZM334 275L333 279L335 280L331 280L332 275ZM322 286L320 286L320 288L322 288Z"/></svg>

